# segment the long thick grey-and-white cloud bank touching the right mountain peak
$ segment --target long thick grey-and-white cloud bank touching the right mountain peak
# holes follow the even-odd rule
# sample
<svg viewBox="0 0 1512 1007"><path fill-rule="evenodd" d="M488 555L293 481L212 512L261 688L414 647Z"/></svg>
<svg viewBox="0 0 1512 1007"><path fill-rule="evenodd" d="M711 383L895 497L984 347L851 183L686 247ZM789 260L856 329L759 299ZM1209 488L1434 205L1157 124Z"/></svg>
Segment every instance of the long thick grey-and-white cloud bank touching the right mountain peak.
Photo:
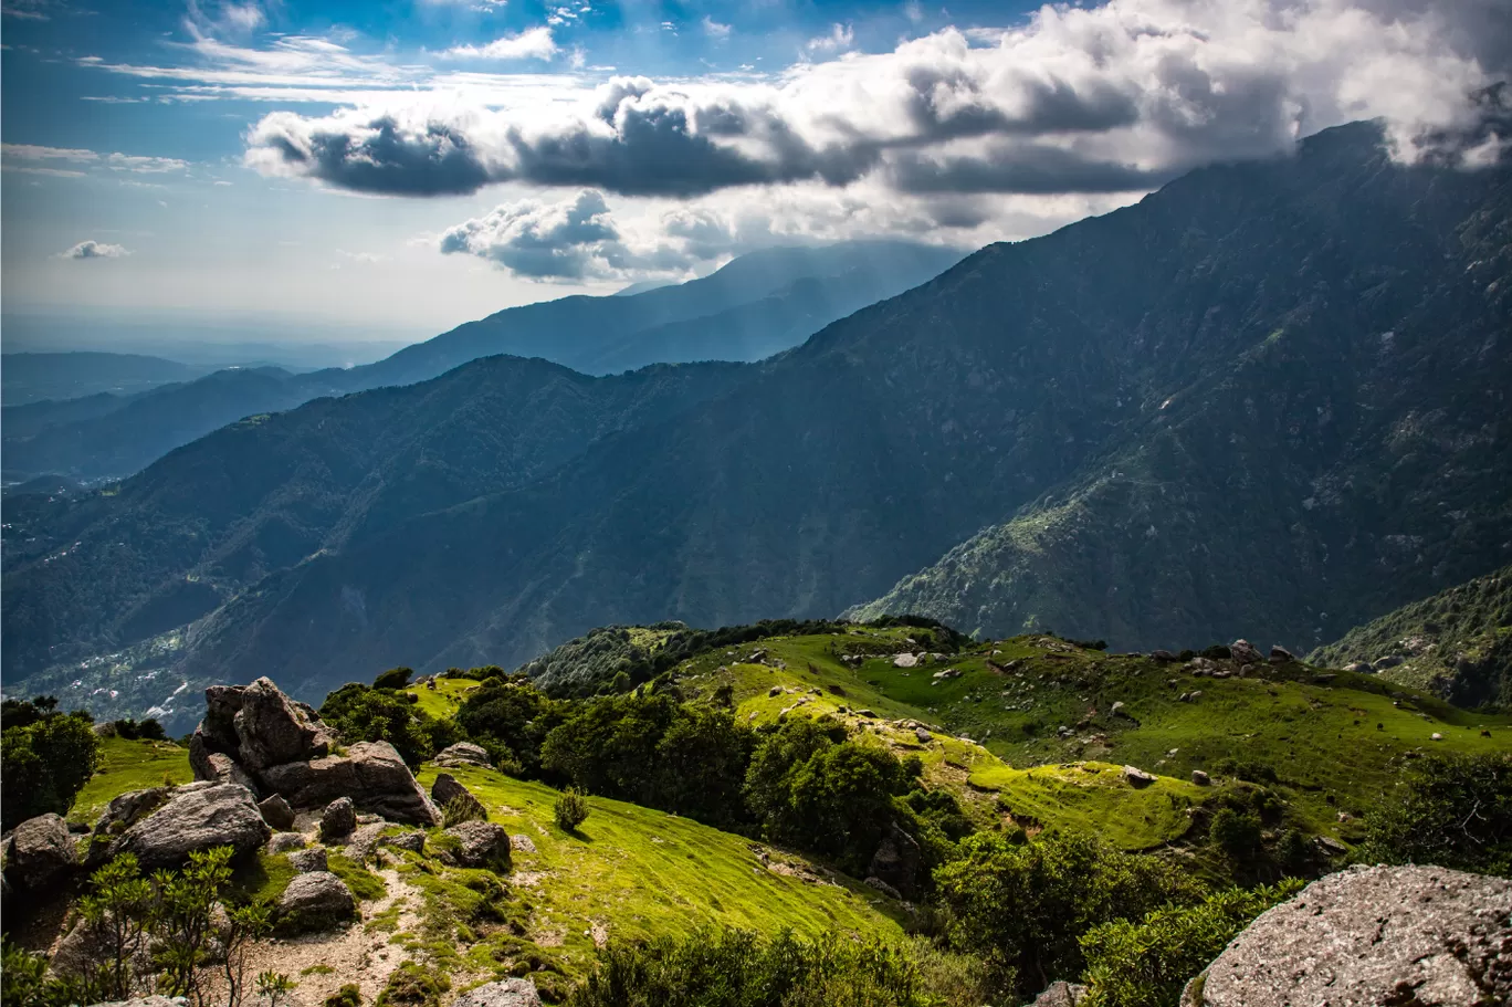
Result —
<svg viewBox="0 0 1512 1007"><path fill-rule="evenodd" d="M921 198L1111 194L1379 116L1403 159L1480 135L1494 160L1507 136L1483 129L1471 95L1512 67L1509 30L1494 0L1046 6L1018 29L947 29L758 82L617 77L546 110L437 94L275 112L245 159L402 197L507 181L677 198L860 181ZM848 44L844 29L829 38Z"/></svg>

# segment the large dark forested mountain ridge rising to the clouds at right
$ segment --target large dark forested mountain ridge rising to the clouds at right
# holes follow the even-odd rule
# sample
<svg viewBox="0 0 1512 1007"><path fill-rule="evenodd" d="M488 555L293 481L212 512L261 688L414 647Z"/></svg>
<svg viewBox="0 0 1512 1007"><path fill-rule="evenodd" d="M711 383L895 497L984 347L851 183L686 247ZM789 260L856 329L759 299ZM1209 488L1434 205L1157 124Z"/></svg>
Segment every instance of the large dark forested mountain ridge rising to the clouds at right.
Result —
<svg viewBox="0 0 1512 1007"><path fill-rule="evenodd" d="M1353 124L761 363L476 360L21 497L5 661L319 697L606 623L842 611L1306 650L1507 561L1509 337L1512 171L1397 163ZM373 367L449 366L432 343Z"/></svg>

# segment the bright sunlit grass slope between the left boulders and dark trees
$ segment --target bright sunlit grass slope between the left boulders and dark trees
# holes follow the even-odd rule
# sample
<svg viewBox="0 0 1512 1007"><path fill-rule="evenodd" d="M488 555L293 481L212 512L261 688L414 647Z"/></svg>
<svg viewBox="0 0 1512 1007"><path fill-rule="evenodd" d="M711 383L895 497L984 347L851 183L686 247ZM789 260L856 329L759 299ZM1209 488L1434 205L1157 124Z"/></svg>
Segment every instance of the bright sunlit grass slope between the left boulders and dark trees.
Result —
<svg viewBox="0 0 1512 1007"><path fill-rule="evenodd" d="M773 872L741 836L597 797L578 833L567 835L552 821L558 791L493 770L448 771L484 803L490 821L534 842L535 853L514 853L511 888L531 906L535 942L553 947L569 971L590 963L593 930L605 925L624 939L686 936L705 924L791 927L810 937L901 933L898 909L872 889ZM434 768L420 773L425 785L434 777Z"/></svg>

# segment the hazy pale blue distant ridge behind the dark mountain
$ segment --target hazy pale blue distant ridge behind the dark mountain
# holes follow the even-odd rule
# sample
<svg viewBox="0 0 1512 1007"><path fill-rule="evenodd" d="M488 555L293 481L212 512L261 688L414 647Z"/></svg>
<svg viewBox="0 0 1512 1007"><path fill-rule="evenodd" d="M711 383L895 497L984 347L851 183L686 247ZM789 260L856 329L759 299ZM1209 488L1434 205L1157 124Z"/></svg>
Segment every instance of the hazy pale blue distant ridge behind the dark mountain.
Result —
<svg viewBox="0 0 1512 1007"><path fill-rule="evenodd" d="M324 396L413 384L494 354L541 357L594 375L652 363L759 360L856 308L928 280L960 254L892 240L770 248L682 284L507 308L357 367L304 373L236 367L133 395L98 393L24 405L9 405L6 398L0 443L5 473L8 481L44 473L121 478L246 416L290 410ZM6 357L8 373L11 360ZM79 361L70 363L77 370ZM51 364L56 370L57 361ZM6 389L9 396L11 384Z"/></svg>

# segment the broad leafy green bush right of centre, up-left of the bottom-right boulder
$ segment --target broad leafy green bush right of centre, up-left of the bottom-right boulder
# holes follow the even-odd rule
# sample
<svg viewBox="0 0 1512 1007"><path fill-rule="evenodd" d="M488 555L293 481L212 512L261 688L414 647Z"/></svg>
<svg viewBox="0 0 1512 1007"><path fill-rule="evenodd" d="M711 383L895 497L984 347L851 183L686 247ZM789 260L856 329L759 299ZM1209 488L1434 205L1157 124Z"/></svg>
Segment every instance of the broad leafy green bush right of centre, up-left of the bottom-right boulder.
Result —
<svg viewBox="0 0 1512 1007"><path fill-rule="evenodd" d="M977 833L960 847L962 856L934 872L951 913L947 936L999 974L1016 972L1024 993L1080 974L1078 939L1093 927L1201 895L1184 872L1084 836L1043 835L1015 844Z"/></svg>

